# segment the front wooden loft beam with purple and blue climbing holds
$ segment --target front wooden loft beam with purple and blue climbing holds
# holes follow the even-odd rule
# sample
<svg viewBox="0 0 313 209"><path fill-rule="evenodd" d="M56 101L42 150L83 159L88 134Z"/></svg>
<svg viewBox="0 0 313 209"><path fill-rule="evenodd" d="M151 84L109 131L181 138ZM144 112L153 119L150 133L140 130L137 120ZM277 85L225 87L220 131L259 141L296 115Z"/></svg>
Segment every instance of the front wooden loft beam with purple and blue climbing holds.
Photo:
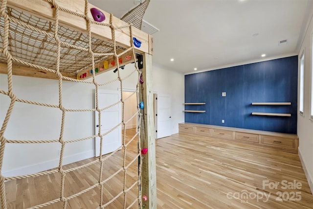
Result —
<svg viewBox="0 0 313 209"><path fill-rule="evenodd" d="M85 14L85 0L57 0L60 7L67 10ZM45 18L54 22L55 8L52 8L52 4L46 0L8 0L7 5L13 8L27 11L35 16ZM89 18L93 20L90 8L97 8L89 3ZM98 8L99 9L99 8ZM99 9L101 10L101 9ZM110 23L110 14L101 10L106 16L106 20L103 23ZM59 12L59 23L68 28L87 33L87 23L85 18L79 17L64 11ZM123 26L127 23L120 19L113 17L114 26ZM132 27L133 36L141 41L139 48L135 47L135 50L139 53L153 53L153 38L149 34ZM91 24L92 37L105 40L108 43L112 43L112 31L109 26ZM122 47L130 47L129 27L117 29L115 32L116 44Z"/></svg>

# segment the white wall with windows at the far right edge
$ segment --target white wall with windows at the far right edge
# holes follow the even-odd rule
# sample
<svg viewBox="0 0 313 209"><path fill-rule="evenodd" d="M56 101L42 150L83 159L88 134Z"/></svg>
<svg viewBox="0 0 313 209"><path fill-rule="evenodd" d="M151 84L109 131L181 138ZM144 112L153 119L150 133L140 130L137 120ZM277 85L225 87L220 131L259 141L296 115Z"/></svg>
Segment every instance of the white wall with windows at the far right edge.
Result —
<svg viewBox="0 0 313 209"><path fill-rule="evenodd" d="M297 134L299 137L299 156L305 169L306 176L313 193L313 120L311 115L311 85L312 81L312 34L313 34L313 15L311 12L311 22L307 29L304 41L301 45L298 57L300 58L304 51L304 111L303 116L298 114ZM298 60L300 66L300 60ZM300 67L299 67L300 69ZM300 77L298 72L298 77ZM299 80L298 80L299 84ZM299 95L299 86L298 86ZM298 96L298 112L299 112L299 96Z"/></svg>

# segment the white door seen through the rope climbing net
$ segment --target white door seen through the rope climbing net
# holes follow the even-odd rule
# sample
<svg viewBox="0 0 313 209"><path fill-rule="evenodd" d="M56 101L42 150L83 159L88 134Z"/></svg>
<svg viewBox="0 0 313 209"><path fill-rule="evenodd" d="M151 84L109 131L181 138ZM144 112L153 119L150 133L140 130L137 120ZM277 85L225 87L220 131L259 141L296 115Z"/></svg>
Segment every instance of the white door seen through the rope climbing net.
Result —
<svg viewBox="0 0 313 209"><path fill-rule="evenodd" d="M120 91L99 90L99 109L120 101ZM121 104L101 112L101 134L105 134L121 122ZM99 132L98 112L95 112L95 134ZM115 151L122 145L122 127L114 129L103 137L102 153L105 155ZM95 157L100 156L100 137L95 138Z"/></svg>

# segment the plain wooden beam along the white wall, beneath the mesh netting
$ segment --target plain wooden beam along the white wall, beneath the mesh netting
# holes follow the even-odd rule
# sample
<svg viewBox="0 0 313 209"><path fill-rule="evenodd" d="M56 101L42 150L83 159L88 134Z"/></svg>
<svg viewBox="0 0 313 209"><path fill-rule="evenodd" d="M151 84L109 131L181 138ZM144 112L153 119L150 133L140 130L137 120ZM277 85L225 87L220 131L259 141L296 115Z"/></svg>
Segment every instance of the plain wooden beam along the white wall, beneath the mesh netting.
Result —
<svg viewBox="0 0 313 209"><path fill-rule="evenodd" d="M6 63L0 63L0 73L7 74ZM12 66L12 73L13 75L22 75L22 76L28 76L28 77L59 79L58 76L53 72L24 67L24 66L17 66L17 65ZM73 75L69 72L61 72L61 73L63 76L76 79L76 75Z"/></svg>

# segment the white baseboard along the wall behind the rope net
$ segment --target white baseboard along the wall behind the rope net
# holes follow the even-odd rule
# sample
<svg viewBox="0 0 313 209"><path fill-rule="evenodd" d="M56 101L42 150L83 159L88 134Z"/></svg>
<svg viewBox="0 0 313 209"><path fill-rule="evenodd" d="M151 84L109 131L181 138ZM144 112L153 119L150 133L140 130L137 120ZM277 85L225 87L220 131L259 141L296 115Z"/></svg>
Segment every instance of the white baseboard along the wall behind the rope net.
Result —
<svg viewBox="0 0 313 209"><path fill-rule="evenodd" d="M75 162L82 161L82 160L92 158L92 157L94 157L94 150L89 150L87 152L81 152L75 155L66 156L63 159L63 165L66 165L69 163L75 163ZM59 166L59 159L55 159L52 161L45 161L45 162L38 163L38 164L22 166L22 167L19 167L17 169L13 169L10 171L4 171L2 172L2 175L5 177L21 176L21 175L42 172L45 170L56 168L58 166Z"/></svg>

